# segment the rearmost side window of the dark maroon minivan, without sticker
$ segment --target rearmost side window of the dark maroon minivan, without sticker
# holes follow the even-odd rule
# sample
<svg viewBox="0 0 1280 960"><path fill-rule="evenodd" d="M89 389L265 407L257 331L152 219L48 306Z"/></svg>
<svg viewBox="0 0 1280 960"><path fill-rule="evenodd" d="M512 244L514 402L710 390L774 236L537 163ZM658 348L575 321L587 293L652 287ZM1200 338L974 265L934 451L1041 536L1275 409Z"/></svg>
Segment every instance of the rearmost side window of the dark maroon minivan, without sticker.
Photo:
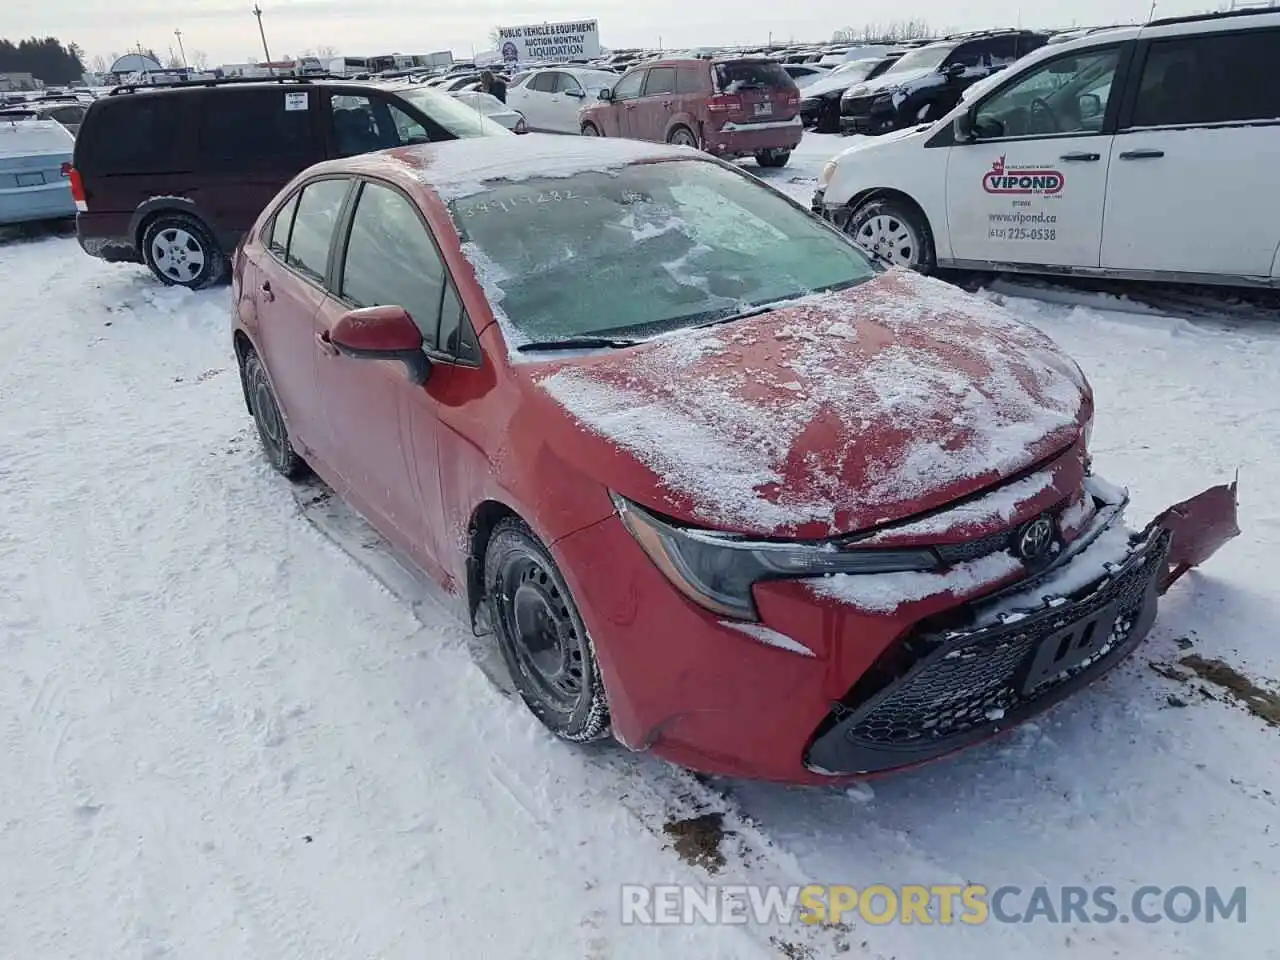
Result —
<svg viewBox="0 0 1280 960"><path fill-rule="evenodd" d="M118 93L95 105L81 132L77 164L84 173L164 173L179 166L184 106L179 93Z"/></svg>

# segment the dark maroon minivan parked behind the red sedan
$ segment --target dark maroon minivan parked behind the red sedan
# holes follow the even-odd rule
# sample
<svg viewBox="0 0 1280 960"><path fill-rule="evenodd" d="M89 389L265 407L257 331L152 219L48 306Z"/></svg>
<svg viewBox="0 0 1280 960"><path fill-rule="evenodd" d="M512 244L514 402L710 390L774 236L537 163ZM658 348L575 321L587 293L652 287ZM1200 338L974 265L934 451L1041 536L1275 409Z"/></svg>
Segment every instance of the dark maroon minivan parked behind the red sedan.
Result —
<svg viewBox="0 0 1280 960"><path fill-rule="evenodd" d="M244 230L315 163L509 136L422 84L291 77L116 87L76 140L76 233L92 256L198 289L227 276Z"/></svg>

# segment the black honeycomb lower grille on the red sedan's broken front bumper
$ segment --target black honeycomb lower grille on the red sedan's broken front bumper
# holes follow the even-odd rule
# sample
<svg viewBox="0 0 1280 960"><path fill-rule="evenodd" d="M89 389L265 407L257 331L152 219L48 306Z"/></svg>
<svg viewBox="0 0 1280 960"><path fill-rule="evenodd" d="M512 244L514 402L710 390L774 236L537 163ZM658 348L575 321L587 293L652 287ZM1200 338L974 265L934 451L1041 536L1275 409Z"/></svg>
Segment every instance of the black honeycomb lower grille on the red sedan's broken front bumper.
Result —
<svg viewBox="0 0 1280 960"><path fill-rule="evenodd" d="M1170 541L1171 532L1157 527L1120 568L1039 609L1010 611L1007 598L997 594L966 611L983 626L922 622L899 646L906 663L893 666L901 672L878 689L873 672L835 704L805 764L840 776L923 763L998 733L1085 686L1151 628ZM1030 608L1038 599L1034 588L1019 589ZM995 618L997 607L1001 616Z"/></svg>

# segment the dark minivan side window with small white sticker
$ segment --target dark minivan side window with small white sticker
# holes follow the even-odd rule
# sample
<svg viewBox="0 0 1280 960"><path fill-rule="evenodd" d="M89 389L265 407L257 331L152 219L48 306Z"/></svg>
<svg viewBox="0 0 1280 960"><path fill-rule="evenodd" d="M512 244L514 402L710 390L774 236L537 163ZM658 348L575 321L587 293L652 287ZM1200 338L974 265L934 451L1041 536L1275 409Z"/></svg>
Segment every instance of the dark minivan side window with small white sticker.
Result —
<svg viewBox="0 0 1280 960"><path fill-rule="evenodd" d="M306 108L298 109L306 99ZM214 88L201 97L201 166L219 173L297 173L320 156L312 147L307 90ZM289 109L285 109L288 106Z"/></svg>

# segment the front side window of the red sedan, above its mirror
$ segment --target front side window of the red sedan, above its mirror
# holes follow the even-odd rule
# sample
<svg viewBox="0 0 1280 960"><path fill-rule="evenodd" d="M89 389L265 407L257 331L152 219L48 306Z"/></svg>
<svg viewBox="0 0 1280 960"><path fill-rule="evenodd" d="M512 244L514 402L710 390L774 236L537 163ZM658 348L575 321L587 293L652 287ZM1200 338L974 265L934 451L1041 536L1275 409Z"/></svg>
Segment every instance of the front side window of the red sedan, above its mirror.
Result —
<svg viewBox="0 0 1280 960"><path fill-rule="evenodd" d="M443 288L444 262L416 207L389 187L366 183L351 220L342 296L357 307L404 307L435 347Z"/></svg>

